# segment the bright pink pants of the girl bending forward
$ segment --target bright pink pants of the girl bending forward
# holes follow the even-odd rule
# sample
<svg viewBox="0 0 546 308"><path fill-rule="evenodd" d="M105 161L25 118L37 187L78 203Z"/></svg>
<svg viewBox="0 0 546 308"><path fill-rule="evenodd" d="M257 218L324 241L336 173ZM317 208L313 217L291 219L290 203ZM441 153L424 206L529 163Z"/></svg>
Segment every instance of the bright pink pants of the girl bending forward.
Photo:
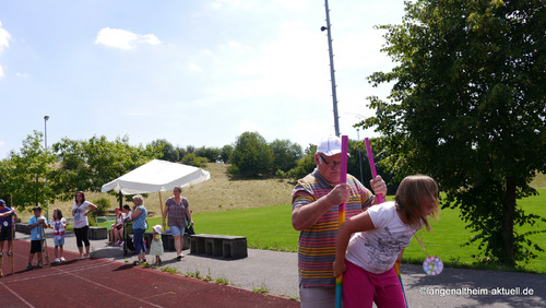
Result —
<svg viewBox="0 0 546 308"><path fill-rule="evenodd" d="M373 274L345 260L347 271L343 274L343 306L406 307L404 293L394 268Z"/></svg>

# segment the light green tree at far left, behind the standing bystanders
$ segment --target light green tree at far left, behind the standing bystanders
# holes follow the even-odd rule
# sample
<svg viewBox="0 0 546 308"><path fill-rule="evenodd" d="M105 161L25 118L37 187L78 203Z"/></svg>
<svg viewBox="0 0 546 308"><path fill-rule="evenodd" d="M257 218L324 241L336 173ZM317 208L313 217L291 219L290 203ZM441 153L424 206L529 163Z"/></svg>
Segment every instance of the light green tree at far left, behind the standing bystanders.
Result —
<svg viewBox="0 0 546 308"><path fill-rule="evenodd" d="M56 199L49 180L55 155L43 146L43 137L34 131L23 141L20 153L11 151L9 158L0 164L1 194L11 194L19 210L36 205L47 209Z"/></svg>

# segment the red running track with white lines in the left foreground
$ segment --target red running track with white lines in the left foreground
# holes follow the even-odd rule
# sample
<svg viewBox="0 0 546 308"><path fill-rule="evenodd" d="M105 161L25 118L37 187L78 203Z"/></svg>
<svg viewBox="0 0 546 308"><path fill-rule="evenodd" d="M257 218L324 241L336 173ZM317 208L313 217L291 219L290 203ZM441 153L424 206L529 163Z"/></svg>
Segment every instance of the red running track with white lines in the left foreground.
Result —
<svg viewBox="0 0 546 308"><path fill-rule="evenodd" d="M299 301L105 259L26 271L31 242L15 240L15 273L3 257L0 307L299 307ZM33 264L36 265L36 257ZM49 247L50 260L54 260Z"/></svg>

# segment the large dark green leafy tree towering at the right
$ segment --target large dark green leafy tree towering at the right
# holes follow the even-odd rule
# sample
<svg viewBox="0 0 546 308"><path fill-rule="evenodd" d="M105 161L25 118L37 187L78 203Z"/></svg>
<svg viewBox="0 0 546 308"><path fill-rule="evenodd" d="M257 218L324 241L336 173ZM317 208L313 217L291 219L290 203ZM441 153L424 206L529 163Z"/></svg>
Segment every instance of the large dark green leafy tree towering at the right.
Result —
<svg viewBox="0 0 546 308"><path fill-rule="evenodd" d="M383 163L425 173L461 209L485 257L513 266L539 247L521 230L541 217L518 206L546 171L544 0L419 0L401 25L384 25L383 51L397 62L376 72L393 82L390 103L370 97L365 128L383 135ZM542 218L543 220L543 218Z"/></svg>

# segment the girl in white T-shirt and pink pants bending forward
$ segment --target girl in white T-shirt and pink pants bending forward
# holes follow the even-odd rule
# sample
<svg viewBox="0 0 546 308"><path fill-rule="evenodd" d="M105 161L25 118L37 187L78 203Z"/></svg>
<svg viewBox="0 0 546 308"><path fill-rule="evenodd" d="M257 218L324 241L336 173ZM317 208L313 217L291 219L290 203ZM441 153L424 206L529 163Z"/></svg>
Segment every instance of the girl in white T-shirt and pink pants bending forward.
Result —
<svg viewBox="0 0 546 308"><path fill-rule="evenodd" d="M345 221L337 232L334 276L343 274L344 307L405 307L394 271L404 248L427 216L438 211L438 185L423 175L402 180L394 202L368 208ZM355 234L353 237L352 235Z"/></svg>

